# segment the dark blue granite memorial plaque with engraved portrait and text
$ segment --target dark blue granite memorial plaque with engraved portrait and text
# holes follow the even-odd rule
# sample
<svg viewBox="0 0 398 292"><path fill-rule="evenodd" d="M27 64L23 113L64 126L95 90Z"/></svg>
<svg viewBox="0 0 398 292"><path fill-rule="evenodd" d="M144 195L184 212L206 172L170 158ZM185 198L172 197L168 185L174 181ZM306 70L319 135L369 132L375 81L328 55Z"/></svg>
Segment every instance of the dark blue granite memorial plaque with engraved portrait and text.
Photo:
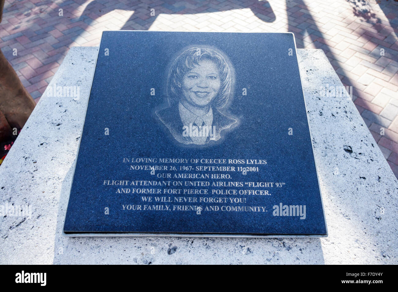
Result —
<svg viewBox="0 0 398 292"><path fill-rule="evenodd" d="M105 31L67 236L326 236L292 33Z"/></svg>

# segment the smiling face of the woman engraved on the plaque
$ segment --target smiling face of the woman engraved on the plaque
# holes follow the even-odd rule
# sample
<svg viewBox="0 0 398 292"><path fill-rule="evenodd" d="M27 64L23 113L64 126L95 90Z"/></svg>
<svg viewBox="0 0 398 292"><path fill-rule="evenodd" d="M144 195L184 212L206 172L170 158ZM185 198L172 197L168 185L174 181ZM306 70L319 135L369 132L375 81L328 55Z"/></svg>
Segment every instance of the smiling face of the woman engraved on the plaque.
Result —
<svg viewBox="0 0 398 292"><path fill-rule="evenodd" d="M182 82L184 99L193 106L206 106L220 89L219 69L213 61L203 60L185 74Z"/></svg>

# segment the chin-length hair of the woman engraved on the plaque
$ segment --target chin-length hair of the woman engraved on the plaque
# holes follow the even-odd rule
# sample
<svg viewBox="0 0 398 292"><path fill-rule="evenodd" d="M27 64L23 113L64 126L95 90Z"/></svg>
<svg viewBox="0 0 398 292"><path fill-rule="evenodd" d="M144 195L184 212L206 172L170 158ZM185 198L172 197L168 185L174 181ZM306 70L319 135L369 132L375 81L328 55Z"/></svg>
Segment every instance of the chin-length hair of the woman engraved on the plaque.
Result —
<svg viewBox="0 0 398 292"><path fill-rule="evenodd" d="M213 105L222 108L227 103L231 91L231 73L224 57L209 48L189 48L174 60L170 68L167 80L167 97L170 105L181 100L183 95L181 86L185 74L198 66L202 60L213 61L219 68L220 89L212 101Z"/></svg>

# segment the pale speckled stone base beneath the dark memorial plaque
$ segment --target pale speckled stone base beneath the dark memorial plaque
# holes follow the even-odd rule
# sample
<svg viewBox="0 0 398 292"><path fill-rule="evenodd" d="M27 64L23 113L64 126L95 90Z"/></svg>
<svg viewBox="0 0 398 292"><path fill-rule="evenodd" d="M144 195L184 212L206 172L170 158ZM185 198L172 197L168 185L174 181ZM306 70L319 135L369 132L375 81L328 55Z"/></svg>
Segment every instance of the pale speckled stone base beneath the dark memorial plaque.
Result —
<svg viewBox="0 0 398 292"><path fill-rule="evenodd" d="M43 96L0 167L0 263L398 263L398 182L322 50L298 50L322 190L327 238L67 238L63 220L98 48L74 47L50 85L79 85L80 99Z"/></svg>

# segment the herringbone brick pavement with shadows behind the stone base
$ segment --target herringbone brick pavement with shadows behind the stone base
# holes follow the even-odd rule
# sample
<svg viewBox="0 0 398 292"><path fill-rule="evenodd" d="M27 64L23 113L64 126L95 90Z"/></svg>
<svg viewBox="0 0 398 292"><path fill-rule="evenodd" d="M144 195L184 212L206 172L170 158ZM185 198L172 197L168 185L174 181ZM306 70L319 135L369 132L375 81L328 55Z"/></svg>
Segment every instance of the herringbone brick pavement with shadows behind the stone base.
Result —
<svg viewBox="0 0 398 292"><path fill-rule="evenodd" d="M98 46L104 30L291 31L298 48L323 49L353 87L354 103L398 177L397 27L392 0L14 0L4 7L0 48L37 102L68 49Z"/></svg>

